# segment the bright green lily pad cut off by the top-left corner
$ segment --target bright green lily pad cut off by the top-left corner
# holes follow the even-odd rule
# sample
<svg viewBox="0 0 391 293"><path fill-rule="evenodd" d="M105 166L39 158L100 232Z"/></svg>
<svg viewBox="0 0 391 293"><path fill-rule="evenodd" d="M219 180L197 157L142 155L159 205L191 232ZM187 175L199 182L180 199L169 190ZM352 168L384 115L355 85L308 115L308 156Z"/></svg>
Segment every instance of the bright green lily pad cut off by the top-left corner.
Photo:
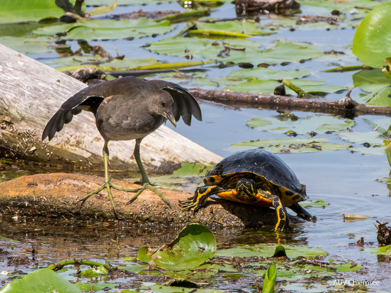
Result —
<svg viewBox="0 0 391 293"><path fill-rule="evenodd" d="M1 0L0 23L38 21L45 17L60 17L64 11L53 0Z"/></svg>

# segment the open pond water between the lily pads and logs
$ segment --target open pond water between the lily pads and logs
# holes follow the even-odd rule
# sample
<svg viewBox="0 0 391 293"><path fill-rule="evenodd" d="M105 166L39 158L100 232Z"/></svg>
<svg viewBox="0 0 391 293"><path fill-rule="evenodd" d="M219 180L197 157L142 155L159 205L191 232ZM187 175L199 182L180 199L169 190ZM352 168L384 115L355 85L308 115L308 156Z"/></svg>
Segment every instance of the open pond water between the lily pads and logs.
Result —
<svg viewBox="0 0 391 293"><path fill-rule="evenodd" d="M142 8L144 11L174 9L182 10L176 4L161 4L147 6L121 6L111 13L125 13ZM313 7L303 6L303 14L316 14L322 11ZM211 17L236 17L232 5L223 5ZM174 35L179 30L176 28L170 35ZM306 78L315 80L325 80L332 85L352 86L352 73L321 73L321 70L340 65L358 65L359 62L351 55L351 50L346 46L352 42L354 30L282 30L281 32L263 37L261 42L268 43L274 38L286 38L294 41L311 42L321 50L345 51L348 58L337 60L327 60L319 58L298 65L290 64L286 67L277 65L274 70L284 69L306 69L312 72ZM116 55L117 46L120 54L125 54L129 58L153 57L168 62L183 61L181 57L157 55L146 51L140 46L146 42L163 39L167 36L157 36L134 39L132 41L92 41L91 45L97 43ZM73 49L79 48L77 42L70 42ZM58 58L56 53L34 54L31 57L44 63ZM198 59L199 60L199 59ZM194 59L197 61L197 58ZM239 70L237 66L217 69L206 66L209 77L225 76L227 73ZM304 78L305 79L305 78ZM184 84L184 86L187 86ZM358 96L360 89L356 88L352 96ZM342 94L331 94L327 99L338 99ZM278 113L273 110L234 108L223 105L212 105L202 103L203 121L194 121L191 128L183 123L178 123L177 132L191 139L192 141L207 147L208 149L227 156L235 151L231 147L233 143L259 139L281 139L283 134L259 131L246 126L246 122L254 117L271 117ZM294 112L297 115L314 115L311 113ZM355 132L370 132L373 128L369 126L363 117L354 118ZM380 116L365 116L369 120L375 120ZM389 124L391 123L391 119ZM168 125L169 126L169 125ZM170 127L170 126L169 126ZM333 143L341 143L336 132L332 134L319 134L316 138L328 138ZM346 142L343 142L346 143ZM360 237L364 237L365 242L374 242L371 246L377 247L376 220L388 221L390 212L390 190L386 183L381 183L378 179L388 178L390 165L385 154L363 154L362 152L351 152L348 149L325 151L316 153L290 153L279 154L281 158L295 171L302 183L306 184L307 194L310 199L321 199L329 203L325 208L310 207L311 214L317 216L317 223L305 222L297 225L293 231L281 237L282 243L294 243L321 247L327 251L334 259L348 258L364 265L363 273L358 277L361 280L380 280L380 286L374 287L378 290L390 291L391 278L390 262L378 262L378 257L369 252L362 251L358 247L350 247L349 243L356 242ZM29 167L19 167L19 172L29 170L31 174L41 170L31 171ZM3 174L11 176L12 168L4 167ZM363 215L371 218L365 220L344 220L343 214ZM21 218L9 219L0 218L0 235L20 242L9 242L0 240L3 251L7 251L11 256L26 256L33 258L32 250L35 247L35 259L40 266L45 266L51 262L78 257L84 259L95 259L116 261L121 257L136 256L137 249L144 245L159 246L169 242L174 238L182 227L132 227L128 223L79 223L65 220L44 220L31 221ZM217 247L241 243L257 243L276 241L273 237L266 237L262 231L253 229L229 229L227 227L215 227L214 232L217 237ZM350 233L354 234L352 236ZM116 239L119 239L117 247ZM7 255L0 254L0 271L12 271L18 269L17 265L7 263ZM34 268L36 262L30 265ZM0 280L6 279L0 275Z"/></svg>

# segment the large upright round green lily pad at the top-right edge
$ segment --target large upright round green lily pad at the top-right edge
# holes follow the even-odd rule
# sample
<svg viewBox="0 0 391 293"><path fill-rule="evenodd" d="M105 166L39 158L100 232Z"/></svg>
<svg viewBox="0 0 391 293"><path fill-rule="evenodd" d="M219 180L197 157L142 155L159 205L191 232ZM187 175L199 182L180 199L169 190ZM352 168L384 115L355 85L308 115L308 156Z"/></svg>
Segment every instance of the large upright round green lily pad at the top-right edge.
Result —
<svg viewBox="0 0 391 293"><path fill-rule="evenodd" d="M353 54L364 65L381 68L391 57L391 2L376 6L362 20L353 38Z"/></svg>

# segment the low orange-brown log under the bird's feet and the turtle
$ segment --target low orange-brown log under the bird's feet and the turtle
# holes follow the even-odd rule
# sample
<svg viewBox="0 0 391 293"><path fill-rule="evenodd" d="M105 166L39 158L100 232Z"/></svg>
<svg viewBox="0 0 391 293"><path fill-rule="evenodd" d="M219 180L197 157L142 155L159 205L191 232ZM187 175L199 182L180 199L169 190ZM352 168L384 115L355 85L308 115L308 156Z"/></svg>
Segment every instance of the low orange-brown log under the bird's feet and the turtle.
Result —
<svg viewBox="0 0 391 293"><path fill-rule="evenodd" d="M103 177L82 174L52 173L19 177L0 183L0 215L12 217L42 217L74 220L115 220L106 191L90 197L81 206L78 201L97 188ZM113 179L114 184L138 188L129 182ZM255 207L223 199L208 199L204 208L193 215L178 205L178 200L192 196L190 193L163 190L171 202L170 209L161 198L146 189L130 205L134 193L113 190L120 218L130 224L177 225L189 222L218 224L233 227L275 225L276 214L271 208ZM302 222L290 216L292 222Z"/></svg>

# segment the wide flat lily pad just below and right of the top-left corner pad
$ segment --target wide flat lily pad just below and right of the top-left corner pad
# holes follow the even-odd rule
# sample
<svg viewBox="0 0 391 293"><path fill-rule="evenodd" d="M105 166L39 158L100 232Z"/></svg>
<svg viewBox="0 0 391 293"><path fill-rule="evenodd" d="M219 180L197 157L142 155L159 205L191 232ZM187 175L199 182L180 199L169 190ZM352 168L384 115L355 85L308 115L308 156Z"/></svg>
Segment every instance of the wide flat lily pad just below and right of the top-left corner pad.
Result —
<svg viewBox="0 0 391 293"><path fill-rule="evenodd" d="M79 20L72 24L48 26L34 30L35 35L55 36L64 39L123 39L166 34L174 29L170 21L156 22L141 17L137 20ZM63 36L65 35L65 36Z"/></svg>

